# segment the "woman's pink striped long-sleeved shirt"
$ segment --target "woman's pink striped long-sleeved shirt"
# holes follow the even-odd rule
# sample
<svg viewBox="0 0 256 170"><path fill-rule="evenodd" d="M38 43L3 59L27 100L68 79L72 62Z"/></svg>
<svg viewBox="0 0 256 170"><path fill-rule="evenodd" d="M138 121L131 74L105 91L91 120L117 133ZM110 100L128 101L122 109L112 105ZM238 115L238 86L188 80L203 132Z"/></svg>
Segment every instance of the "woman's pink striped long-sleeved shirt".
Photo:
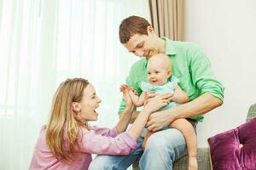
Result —
<svg viewBox="0 0 256 170"><path fill-rule="evenodd" d="M119 133L116 128L108 129L92 127L90 131L82 129L79 133L80 156L78 161L72 163L58 161L49 150L46 143L45 129L41 131L32 156L30 170L53 169L88 169L91 154L124 156L137 149L137 141L129 133Z"/></svg>

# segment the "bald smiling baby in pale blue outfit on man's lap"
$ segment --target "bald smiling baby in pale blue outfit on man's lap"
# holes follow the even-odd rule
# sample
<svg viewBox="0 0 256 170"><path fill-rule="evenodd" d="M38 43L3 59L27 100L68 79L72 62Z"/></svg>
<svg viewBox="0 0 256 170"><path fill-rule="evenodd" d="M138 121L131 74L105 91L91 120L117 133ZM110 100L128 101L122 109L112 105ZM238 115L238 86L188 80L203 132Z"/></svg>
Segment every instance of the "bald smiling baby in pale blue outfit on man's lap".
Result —
<svg viewBox="0 0 256 170"><path fill-rule="evenodd" d="M141 88L143 89L143 93L140 96L137 96L136 92L127 86L134 105L144 105L147 93L151 91L154 91L155 94L172 94L172 100L169 105L166 105L160 110L170 109L179 104L188 102L188 95L177 85L177 82L179 82L177 77L172 76L172 63L170 57L166 54L154 54L148 59L147 71L148 82L142 82ZM168 82L168 78L170 78L170 82ZM197 141L194 127L184 118L173 121L169 127L177 128L183 133L189 153L189 170L197 169ZM153 132L150 131L146 133L143 141L143 149L146 147L147 140L152 133Z"/></svg>

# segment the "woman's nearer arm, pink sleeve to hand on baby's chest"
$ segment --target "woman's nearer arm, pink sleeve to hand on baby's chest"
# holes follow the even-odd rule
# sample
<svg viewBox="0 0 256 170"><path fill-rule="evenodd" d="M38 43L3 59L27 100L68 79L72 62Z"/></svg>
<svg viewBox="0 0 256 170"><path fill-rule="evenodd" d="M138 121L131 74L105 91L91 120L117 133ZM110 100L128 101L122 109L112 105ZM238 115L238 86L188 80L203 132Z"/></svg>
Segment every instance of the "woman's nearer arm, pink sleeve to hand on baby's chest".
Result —
<svg viewBox="0 0 256 170"><path fill-rule="evenodd" d="M95 130L88 131L82 129L82 133L79 135L79 138L81 138L81 140L79 139L81 151L97 155L128 155L132 150L137 148L137 139L140 133L143 132L143 127L145 127L150 113L168 105L170 97L171 94L160 94L154 99L151 99L148 104L144 106L143 111L137 116L131 128L127 132L119 133L119 135L115 137L102 136L102 134L97 134ZM132 111L131 113L130 111L126 113L131 116ZM120 126L117 125L117 128L118 127Z"/></svg>

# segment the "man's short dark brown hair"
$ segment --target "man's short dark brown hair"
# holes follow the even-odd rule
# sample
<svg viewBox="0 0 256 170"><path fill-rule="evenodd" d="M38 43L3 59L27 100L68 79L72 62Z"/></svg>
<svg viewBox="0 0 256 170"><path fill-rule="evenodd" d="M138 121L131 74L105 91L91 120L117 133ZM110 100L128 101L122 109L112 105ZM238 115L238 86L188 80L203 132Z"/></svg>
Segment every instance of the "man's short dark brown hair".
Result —
<svg viewBox="0 0 256 170"><path fill-rule="evenodd" d="M132 15L125 20L122 20L119 26L119 40L121 43L126 43L131 36L135 34L148 35L148 20L142 17Z"/></svg>

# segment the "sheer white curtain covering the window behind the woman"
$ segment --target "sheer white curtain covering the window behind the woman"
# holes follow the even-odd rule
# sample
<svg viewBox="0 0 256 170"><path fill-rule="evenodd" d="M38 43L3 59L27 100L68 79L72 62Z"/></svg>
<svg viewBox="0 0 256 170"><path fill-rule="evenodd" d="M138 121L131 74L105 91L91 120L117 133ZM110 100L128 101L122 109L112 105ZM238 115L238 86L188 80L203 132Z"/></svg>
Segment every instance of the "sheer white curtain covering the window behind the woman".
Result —
<svg viewBox="0 0 256 170"><path fill-rule="evenodd" d="M150 20L148 0L0 0L0 169L27 169L57 86L84 77L113 127L119 85L137 58L119 43L119 23Z"/></svg>

